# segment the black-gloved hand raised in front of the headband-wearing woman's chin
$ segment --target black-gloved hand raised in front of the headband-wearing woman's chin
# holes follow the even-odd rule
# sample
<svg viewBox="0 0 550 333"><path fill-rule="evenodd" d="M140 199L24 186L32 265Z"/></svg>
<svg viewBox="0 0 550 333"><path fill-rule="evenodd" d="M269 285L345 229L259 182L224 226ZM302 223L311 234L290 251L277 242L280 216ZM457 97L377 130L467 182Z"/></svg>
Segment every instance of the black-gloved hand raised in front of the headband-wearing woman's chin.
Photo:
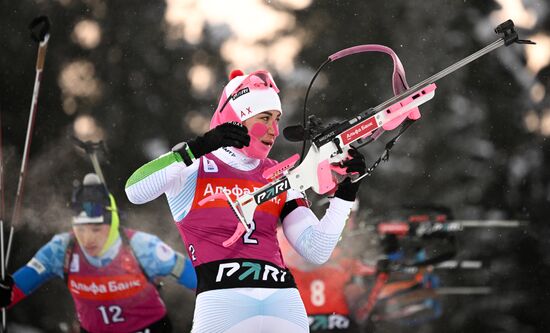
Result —
<svg viewBox="0 0 550 333"><path fill-rule="evenodd" d="M218 125L203 136L198 136L187 142L195 158L221 147L242 148L249 144L248 130L243 124L235 121Z"/></svg>

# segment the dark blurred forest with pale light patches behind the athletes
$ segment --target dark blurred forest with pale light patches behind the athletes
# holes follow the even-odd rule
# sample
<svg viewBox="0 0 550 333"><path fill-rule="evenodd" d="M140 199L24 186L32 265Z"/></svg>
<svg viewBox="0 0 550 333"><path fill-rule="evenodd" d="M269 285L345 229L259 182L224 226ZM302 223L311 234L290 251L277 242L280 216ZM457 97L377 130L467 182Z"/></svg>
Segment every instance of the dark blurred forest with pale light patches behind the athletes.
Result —
<svg viewBox="0 0 550 333"><path fill-rule="evenodd" d="M106 143L101 162L125 224L184 252L165 200L134 206L124 184L143 163L207 129L230 70L274 74L284 127L301 120L313 73L338 50L387 45L412 86L493 42L494 27L513 19L520 37L537 45L502 47L439 81L435 98L421 107L423 118L364 182L361 209L368 219L406 203L436 203L460 219L529 221L520 229L463 233L464 256L491 260L478 282L495 292L449 296L441 318L404 331L550 331L548 1L4 1L0 112L7 217L35 75L37 47L28 24L38 15L49 16L52 29L10 272L55 233L70 229L73 180L92 171L70 135ZM380 54L335 62L317 79L309 113L330 122L376 106L392 96L390 73L389 58ZM300 147L281 137L272 157L284 159ZM382 147L363 151L374 161ZM457 273L443 283L465 279ZM194 295L166 282L162 295L170 316L178 331L189 329ZM68 331L74 322L60 279L8 315L18 325L14 332L23 326Z"/></svg>

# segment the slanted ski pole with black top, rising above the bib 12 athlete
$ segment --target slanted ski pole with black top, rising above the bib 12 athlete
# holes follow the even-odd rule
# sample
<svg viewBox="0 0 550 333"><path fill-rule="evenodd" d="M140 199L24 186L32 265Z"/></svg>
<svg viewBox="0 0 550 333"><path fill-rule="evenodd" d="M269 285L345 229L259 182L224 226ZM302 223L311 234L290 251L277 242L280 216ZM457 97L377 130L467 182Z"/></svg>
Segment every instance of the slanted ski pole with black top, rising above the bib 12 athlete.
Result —
<svg viewBox="0 0 550 333"><path fill-rule="evenodd" d="M27 174L27 164L29 161L32 132L34 129L36 112L38 110L38 93L40 91L40 82L42 81L42 72L44 70L44 61L46 59L46 50L48 47L48 41L50 39L50 20L47 16L39 16L32 20L29 25L29 29L31 30L31 38L38 43L36 75L34 78L34 88L32 93L29 122L27 125L27 135L25 137L25 146L23 149L23 157L21 161L21 171L19 172L19 181L17 184L17 192L15 194L15 204L11 220L10 234L8 238L8 247L6 250L5 265L2 265L2 267L8 267L14 227L17 225L17 222L19 222L21 204L23 202L23 185L25 183L25 176Z"/></svg>

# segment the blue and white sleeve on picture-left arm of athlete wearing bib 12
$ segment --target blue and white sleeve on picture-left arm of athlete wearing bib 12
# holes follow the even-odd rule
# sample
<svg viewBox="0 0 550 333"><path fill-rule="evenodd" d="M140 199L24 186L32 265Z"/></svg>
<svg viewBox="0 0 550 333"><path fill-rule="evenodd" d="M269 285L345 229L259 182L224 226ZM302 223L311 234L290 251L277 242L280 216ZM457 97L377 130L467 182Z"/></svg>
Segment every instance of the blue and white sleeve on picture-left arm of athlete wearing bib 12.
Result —
<svg viewBox="0 0 550 333"><path fill-rule="evenodd" d="M68 233L55 235L38 250L27 265L15 272L13 275L15 285L25 295L29 295L56 276L63 278L63 264L69 239Z"/></svg>

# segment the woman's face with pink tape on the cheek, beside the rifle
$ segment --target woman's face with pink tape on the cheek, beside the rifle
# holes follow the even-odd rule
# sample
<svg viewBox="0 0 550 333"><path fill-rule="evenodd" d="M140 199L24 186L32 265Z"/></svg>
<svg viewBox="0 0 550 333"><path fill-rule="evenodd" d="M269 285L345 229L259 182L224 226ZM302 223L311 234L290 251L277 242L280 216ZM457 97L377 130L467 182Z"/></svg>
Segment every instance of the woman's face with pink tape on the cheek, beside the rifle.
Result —
<svg viewBox="0 0 550 333"><path fill-rule="evenodd" d="M266 158L279 135L281 112L264 111L243 121L250 135L250 145L243 151L250 157Z"/></svg>

